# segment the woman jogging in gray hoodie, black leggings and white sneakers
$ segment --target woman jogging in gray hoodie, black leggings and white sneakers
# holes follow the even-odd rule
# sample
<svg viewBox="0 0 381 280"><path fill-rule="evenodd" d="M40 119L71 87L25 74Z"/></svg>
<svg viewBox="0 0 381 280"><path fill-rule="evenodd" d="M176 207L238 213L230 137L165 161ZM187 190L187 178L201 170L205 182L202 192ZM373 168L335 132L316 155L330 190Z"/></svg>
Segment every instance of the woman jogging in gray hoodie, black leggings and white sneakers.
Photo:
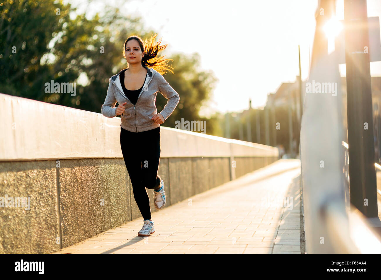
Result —
<svg viewBox="0 0 381 280"><path fill-rule="evenodd" d="M144 224L138 236L155 232L151 219L150 200L147 189L154 189L157 210L165 206L164 182L157 171L160 162L160 124L172 114L180 97L166 82L162 74L171 67L171 59L157 58L161 39L143 42L139 36L130 36L123 46L126 69L109 79L107 96L102 105L102 115L113 118L120 115L120 146L130 175L133 194L143 216ZM148 67L150 66L150 67ZM173 71L171 71L173 73ZM155 105L157 91L168 99L163 110L157 114ZM118 102L119 106L115 108Z"/></svg>

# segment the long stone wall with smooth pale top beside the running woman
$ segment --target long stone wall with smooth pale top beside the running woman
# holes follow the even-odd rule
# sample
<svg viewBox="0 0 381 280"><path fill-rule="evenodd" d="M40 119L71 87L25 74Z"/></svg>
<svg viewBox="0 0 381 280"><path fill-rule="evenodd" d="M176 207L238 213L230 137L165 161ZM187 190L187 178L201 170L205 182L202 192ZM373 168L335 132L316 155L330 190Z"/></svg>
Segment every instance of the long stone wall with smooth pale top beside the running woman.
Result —
<svg viewBox="0 0 381 280"><path fill-rule="evenodd" d="M141 218L120 118L6 94L0 118L0 253L51 253ZM278 159L274 147L164 126L160 146L166 207Z"/></svg>

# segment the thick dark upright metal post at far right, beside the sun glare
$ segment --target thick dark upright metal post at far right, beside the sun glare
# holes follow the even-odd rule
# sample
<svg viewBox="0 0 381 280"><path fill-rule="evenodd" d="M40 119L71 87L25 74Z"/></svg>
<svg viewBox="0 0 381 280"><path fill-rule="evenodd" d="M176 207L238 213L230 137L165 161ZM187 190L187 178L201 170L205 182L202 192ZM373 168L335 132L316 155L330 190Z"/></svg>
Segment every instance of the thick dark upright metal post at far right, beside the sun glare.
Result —
<svg viewBox="0 0 381 280"><path fill-rule="evenodd" d="M378 219L367 17L366 0L344 0L351 203Z"/></svg>

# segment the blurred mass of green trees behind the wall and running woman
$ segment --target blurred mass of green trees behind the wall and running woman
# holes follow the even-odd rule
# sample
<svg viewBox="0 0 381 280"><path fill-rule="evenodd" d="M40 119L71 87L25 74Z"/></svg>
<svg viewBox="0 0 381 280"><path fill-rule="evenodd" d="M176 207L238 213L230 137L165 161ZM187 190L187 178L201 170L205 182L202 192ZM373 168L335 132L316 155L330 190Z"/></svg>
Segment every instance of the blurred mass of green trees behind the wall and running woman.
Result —
<svg viewBox="0 0 381 280"><path fill-rule="evenodd" d="M90 5L90 2L88 2ZM61 0L12 0L0 5L0 92L38 101L101 112L109 78L126 68L123 43L130 35L143 40L155 34L140 17L126 16L106 5L102 15L88 19ZM16 50L16 51L14 51ZM200 56L181 53L173 59L174 74L166 80L180 103L164 126L175 120L207 120L207 133L218 131L216 119L200 118L200 107L211 98L216 78L200 70ZM76 94L45 92L46 83L76 83ZM158 112L167 100L157 95Z"/></svg>

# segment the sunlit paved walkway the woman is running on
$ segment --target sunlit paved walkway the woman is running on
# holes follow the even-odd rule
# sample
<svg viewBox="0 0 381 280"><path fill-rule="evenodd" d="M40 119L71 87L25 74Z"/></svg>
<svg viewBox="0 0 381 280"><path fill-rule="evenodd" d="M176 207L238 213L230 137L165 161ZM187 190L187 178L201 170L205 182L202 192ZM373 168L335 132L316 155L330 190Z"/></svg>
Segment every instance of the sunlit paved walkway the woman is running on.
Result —
<svg viewBox="0 0 381 280"><path fill-rule="evenodd" d="M279 160L56 253L300 254L300 161ZM150 197L150 199L152 199Z"/></svg>

